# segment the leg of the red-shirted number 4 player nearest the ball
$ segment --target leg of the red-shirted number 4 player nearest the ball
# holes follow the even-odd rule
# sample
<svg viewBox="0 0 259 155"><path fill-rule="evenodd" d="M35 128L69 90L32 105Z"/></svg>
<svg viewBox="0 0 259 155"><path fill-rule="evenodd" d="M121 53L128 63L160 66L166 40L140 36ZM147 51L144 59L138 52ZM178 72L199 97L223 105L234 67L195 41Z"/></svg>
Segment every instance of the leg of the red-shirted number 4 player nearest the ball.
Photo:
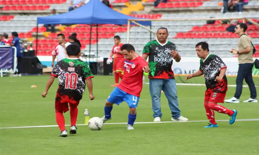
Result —
<svg viewBox="0 0 259 155"><path fill-rule="evenodd" d="M111 111L113 104L119 105L123 102L123 91L118 87L114 88L110 96L107 98L104 106L104 117L102 117L103 122L110 120L112 118Z"/></svg>

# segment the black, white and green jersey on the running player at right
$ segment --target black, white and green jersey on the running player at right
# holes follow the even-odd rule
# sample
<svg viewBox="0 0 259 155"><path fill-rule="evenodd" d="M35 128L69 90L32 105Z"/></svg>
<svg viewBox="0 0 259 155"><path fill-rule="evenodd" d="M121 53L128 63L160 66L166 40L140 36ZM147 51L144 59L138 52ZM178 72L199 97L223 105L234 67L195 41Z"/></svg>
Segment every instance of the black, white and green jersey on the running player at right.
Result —
<svg viewBox="0 0 259 155"><path fill-rule="evenodd" d="M227 91L227 77L224 75L221 82L215 81L219 76L220 70L227 68L226 64L220 57L210 53L205 60L200 59L199 70L203 73L207 90L213 92L226 92Z"/></svg>

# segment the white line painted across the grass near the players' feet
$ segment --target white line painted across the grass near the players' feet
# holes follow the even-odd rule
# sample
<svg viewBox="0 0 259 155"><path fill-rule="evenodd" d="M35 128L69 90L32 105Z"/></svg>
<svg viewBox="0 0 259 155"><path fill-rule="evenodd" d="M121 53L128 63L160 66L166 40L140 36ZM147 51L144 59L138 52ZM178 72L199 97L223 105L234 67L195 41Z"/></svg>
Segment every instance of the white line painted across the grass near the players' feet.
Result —
<svg viewBox="0 0 259 155"><path fill-rule="evenodd" d="M229 120L217 120L217 122L227 122ZM256 119L237 119L236 121L259 121L258 118ZM208 122L206 121L186 121L186 122ZM135 122L134 124L151 124L151 123L184 123L184 122ZM127 124L127 123L104 123L104 125L113 125L113 124ZM83 126L88 124L77 124L76 126ZM70 125L65 125L70 126ZM57 125L45 125L45 126L27 126L27 127L6 127L0 129L19 129L19 128L45 128L45 127L58 127Z"/></svg>

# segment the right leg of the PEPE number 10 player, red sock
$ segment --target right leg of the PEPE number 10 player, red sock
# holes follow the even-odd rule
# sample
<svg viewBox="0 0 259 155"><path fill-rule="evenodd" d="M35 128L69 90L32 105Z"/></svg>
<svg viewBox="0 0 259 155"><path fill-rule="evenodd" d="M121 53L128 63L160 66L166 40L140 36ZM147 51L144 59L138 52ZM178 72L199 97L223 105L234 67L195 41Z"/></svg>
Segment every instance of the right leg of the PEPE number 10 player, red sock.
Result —
<svg viewBox="0 0 259 155"><path fill-rule="evenodd" d="M70 101L69 102L69 108L70 108L70 130L69 134L76 134L76 120L78 115L78 106L79 101Z"/></svg>

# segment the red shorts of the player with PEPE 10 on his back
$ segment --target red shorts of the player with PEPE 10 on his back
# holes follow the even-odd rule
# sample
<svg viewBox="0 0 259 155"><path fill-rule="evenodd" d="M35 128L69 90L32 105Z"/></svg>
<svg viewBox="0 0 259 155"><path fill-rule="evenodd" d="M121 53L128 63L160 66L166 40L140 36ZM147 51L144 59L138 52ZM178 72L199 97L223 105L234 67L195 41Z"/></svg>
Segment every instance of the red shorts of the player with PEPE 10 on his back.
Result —
<svg viewBox="0 0 259 155"><path fill-rule="evenodd" d="M58 98L58 100L57 100ZM75 101L73 99L69 99L68 96L60 96L59 94L56 95L56 100L55 100L55 109L56 111L59 112L67 112L69 111L68 104L69 106L75 106L77 107L80 101Z"/></svg>

